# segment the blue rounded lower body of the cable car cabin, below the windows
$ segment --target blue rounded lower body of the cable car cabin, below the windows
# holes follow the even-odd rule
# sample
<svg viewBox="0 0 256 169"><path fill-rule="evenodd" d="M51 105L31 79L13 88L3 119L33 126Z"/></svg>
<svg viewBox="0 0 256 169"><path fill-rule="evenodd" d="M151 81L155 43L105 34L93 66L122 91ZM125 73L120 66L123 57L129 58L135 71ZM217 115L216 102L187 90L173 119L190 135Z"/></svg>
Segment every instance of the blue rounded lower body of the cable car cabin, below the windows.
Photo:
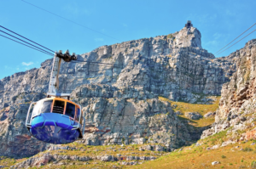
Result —
<svg viewBox="0 0 256 169"><path fill-rule="evenodd" d="M33 117L30 132L49 144L69 144L79 138L79 129L73 128L78 125L67 115L43 113Z"/></svg>

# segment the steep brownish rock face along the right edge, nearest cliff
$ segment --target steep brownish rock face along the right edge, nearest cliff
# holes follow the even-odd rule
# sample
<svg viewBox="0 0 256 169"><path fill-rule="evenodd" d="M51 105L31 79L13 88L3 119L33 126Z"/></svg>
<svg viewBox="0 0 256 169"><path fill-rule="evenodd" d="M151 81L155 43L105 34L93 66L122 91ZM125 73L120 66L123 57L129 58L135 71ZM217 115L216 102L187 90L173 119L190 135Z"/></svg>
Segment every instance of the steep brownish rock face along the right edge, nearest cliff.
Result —
<svg viewBox="0 0 256 169"><path fill-rule="evenodd" d="M247 42L244 48L228 57L236 59L237 70L230 82L223 85L215 123L211 129L203 132L201 138L224 130L233 134L230 138L233 141L238 141L237 136L240 140L255 138L256 39ZM238 132L246 133L240 135Z"/></svg>

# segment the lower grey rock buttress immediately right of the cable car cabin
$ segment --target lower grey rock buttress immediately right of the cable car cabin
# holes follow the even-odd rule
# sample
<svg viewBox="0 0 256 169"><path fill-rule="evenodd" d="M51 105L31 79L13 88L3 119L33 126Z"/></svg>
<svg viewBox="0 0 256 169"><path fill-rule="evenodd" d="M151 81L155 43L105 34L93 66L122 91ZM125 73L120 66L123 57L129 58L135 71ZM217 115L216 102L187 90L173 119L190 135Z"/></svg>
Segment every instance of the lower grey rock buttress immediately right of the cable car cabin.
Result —
<svg viewBox="0 0 256 169"><path fill-rule="evenodd" d="M177 119L171 104L159 99L134 99L108 85L83 85L72 98L86 112L85 144L166 144L175 149L190 138L188 128ZM150 95L148 96L148 98ZM88 130L87 129L87 130Z"/></svg>

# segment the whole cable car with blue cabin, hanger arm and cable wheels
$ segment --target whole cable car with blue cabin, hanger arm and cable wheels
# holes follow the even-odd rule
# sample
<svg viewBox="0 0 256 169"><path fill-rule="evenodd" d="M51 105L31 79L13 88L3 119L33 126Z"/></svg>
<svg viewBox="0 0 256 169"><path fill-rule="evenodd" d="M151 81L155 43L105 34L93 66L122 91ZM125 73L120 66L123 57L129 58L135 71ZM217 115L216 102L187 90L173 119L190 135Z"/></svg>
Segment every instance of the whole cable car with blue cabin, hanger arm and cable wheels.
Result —
<svg viewBox="0 0 256 169"><path fill-rule="evenodd" d="M77 57L68 50L65 54L55 53L47 98L30 104L26 115L26 127L32 137L49 144L69 144L84 135L81 106L70 100L69 93L57 93L61 59L70 62Z"/></svg>

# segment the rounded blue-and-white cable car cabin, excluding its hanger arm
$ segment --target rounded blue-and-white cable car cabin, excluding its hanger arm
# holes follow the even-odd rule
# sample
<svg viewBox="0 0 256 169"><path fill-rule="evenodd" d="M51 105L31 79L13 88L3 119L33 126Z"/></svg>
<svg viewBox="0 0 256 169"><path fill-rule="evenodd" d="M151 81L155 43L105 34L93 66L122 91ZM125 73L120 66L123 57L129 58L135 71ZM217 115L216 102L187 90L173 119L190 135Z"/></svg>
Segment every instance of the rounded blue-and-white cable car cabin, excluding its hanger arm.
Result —
<svg viewBox="0 0 256 169"><path fill-rule="evenodd" d="M69 144L83 138L83 121L79 104L67 99L47 98L30 104L26 127L34 138L46 143Z"/></svg>

